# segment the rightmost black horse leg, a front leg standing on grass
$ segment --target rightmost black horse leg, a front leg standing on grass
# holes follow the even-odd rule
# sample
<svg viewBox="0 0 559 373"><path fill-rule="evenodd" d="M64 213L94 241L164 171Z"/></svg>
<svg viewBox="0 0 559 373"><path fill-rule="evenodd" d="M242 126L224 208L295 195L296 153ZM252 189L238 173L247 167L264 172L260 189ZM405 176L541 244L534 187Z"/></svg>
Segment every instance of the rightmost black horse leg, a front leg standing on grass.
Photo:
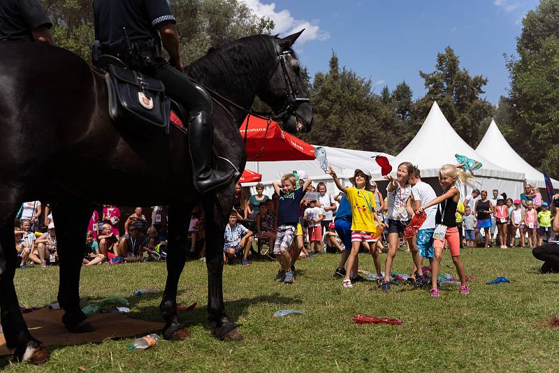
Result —
<svg viewBox="0 0 559 373"><path fill-rule="evenodd" d="M208 314L210 322L216 323L214 333L219 339L242 340L237 326L225 313L223 302L223 246L226 217L217 211L215 197L204 200L206 266L208 268Z"/></svg>

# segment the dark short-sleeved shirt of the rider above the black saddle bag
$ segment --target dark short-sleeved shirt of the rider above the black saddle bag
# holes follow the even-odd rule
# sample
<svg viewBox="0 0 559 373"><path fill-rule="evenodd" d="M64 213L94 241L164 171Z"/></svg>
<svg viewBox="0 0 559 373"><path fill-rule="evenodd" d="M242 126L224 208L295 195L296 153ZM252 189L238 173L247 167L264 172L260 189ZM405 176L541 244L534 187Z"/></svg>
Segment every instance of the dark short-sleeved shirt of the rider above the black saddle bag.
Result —
<svg viewBox="0 0 559 373"><path fill-rule="evenodd" d="M157 24L176 22L167 0L94 0L95 41L117 50L124 41L126 27L129 40L161 44Z"/></svg>

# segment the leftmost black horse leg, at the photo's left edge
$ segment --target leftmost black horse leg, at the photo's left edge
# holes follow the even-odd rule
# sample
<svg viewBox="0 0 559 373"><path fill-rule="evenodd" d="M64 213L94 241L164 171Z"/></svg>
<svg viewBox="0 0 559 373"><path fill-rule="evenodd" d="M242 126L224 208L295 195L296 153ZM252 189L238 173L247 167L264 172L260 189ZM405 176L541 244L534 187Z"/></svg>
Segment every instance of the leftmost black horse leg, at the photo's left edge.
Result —
<svg viewBox="0 0 559 373"><path fill-rule="evenodd" d="M3 193L6 193L4 196L13 196L9 191ZM49 353L45 345L29 333L13 284L17 266L13 235L15 206L15 203L0 203L0 321L8 349L15 349L17 360L43 364L48 360Z"/></svg>

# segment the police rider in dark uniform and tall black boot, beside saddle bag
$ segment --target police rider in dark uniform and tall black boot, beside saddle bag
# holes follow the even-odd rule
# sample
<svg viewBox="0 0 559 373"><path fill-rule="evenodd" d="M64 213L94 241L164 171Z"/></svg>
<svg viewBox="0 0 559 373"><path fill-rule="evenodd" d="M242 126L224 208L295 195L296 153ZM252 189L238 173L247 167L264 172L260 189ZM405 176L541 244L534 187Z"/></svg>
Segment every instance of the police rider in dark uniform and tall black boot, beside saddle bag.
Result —
<svg viewBox="0 0 559 373"><path fill-rule="evenodd" d="M167 0L94 0L93 60L110 54L164 82L168 96L189 113L189 150L194 186L200 193L230 182L235 170L212 169L212 99L184 73L175 17ZM163 59L161 44L170 55Z"/></svg>

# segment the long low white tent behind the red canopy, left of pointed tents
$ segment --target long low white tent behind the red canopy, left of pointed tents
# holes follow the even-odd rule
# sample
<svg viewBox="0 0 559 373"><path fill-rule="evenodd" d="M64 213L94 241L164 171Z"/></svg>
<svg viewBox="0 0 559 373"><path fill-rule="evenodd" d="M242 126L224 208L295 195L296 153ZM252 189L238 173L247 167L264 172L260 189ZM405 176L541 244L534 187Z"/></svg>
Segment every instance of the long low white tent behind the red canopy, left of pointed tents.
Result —
<svg viewBox="0 0 559 373"><path fill-rule="evenodd" d="M318 147L319 145L313 145ZM333 166L338 173L340 179L348 179L354 175L356 168L366 168L372 170L377 167L375 159L376 155L386 156L388 159L393 158L390 154L367 152L365 150L342 149L339 147L324 147L328 163ZM280 180L285 173L291 173L293 170L304 170L313 180L313 184L324 182L328 190L335 190L335 185L330 175L324 173L320 168L319 162L314 161L274 161L274 162L247 162L245 166L248 170L255 171L262 175L262 184L265 186L265 194L271 196L272 182ZM245 186L254 186L256 183L243 184Z"/></svg>

